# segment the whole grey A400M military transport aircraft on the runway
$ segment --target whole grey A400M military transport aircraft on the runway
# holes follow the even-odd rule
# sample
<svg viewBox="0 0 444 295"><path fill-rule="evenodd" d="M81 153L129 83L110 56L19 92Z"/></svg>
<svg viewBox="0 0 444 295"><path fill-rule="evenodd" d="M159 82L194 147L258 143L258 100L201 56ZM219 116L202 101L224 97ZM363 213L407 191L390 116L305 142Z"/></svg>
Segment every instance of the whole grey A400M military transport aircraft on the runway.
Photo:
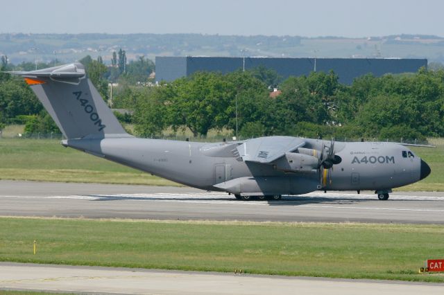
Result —
<svg viewBox="0 0 444 295"><path fill-rule="evenodd" d="M430 173L425 161L397 143L290 136L222 143L136 138L114 117L82 64L10 73L31 86L67 138L62 141L65 147L194 188L228 192L237 199L375 190L386 200L392 188Z"/></svg>

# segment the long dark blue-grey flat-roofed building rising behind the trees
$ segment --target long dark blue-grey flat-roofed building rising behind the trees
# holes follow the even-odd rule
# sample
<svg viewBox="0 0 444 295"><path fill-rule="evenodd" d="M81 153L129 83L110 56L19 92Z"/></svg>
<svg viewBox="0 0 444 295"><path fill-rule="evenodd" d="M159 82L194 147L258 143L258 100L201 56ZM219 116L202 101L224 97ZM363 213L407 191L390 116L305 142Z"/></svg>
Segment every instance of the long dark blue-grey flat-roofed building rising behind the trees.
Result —
<svg viewBox="0 0 444 295"><path fill-rule="evenodd" d="M381 76L386 73L413 73L427 59L387 58L274 58L274 57L155 57L155 80L173 81L196 71L228 73L238 69L266 66L288 78L291 75L308 75L311 71L333 70L339 81L351 84L354 78L366 73Z"/></svg>

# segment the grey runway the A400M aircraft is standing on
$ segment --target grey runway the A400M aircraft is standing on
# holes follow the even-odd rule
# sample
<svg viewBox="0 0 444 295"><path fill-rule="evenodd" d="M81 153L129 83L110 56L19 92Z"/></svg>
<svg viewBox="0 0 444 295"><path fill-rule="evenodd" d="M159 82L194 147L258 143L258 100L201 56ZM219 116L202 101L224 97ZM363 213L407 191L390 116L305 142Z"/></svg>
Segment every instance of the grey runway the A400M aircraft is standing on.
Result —
<svg viewBox="0 0 444 295"><path fill-rule="evenodd" d="M444 193L323 192L280 201L238 201L226 193L186 187L0 181L0 215L444 224Z"/></svg>

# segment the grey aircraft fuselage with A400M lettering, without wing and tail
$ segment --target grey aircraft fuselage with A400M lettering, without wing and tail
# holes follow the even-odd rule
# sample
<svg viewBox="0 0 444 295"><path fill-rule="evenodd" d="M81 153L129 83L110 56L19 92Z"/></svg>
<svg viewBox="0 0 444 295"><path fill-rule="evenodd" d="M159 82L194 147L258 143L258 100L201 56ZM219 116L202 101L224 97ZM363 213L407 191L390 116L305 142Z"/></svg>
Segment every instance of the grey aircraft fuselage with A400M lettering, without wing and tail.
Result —
<svg viewBox="0 0 444 295"><path fill-rule="evenodd" d="M301 140L318 149L323 144L330 143L309 138ZM248 141L239 143L248 145ZM322 169L321 172L316 170L287 172L277 170L273 164L237 161L234 157L209 157L204 152L205 147L229 144L144 138L104 138L64 142L64 145L69 147L205 190L224 190L214 186L245 177L268 181L267 190L262 192L226 190L239 195L244 193L295 195L318 189L388 191L391 188L413 184L421 177L427 176L424 172L424 165L427 164L407 147L396 143L336 142L336 146L341 145L341 150L335 154L341 157L342 161L330 169ZM407 153L407 157L403 157L402 152Z"/></svg>

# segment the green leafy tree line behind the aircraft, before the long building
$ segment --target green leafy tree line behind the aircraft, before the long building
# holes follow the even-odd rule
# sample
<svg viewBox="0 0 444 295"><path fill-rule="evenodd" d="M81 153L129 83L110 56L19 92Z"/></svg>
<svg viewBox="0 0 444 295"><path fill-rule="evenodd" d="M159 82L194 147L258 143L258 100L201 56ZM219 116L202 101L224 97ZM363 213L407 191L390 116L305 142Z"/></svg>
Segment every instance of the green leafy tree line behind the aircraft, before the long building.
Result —
<svg viewBox="0 0 444 295"><path fill-rule="evenodd" d="M113 106L133 111L119 119L133 124L138 136L157 137L166 129L184 128L200 137L223 128L234 135L236 127L241 138L290 135L400 141L444 136L442 69L382 77L368 74L345 85L332 71L282 80L275 71L259 67L225 75L199 72L146 87L135 81L146 80L154 64L140 57L122 68L123 58L121 52L113 57L111 69L91 57L82 62L105 99L112 71L118 72ZM273 87L279 91L271 96ZM28 124L34 126L29 130L55 127L23 82L0 74L0 123L24 123L24 116L38 118Z"/></svg>

